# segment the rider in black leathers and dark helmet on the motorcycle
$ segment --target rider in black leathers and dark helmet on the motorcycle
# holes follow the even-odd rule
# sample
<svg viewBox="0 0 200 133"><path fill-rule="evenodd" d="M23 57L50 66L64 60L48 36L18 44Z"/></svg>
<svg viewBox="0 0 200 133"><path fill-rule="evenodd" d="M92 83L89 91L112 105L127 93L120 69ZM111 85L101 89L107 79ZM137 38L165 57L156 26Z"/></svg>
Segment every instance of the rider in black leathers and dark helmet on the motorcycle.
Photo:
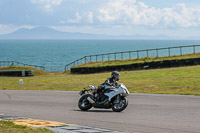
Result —
<svg viewBox="0 0 200 133"><path fill-rule="evenodd" d="M111 73L111 77L108 78L103 84L99 85L98 86L98 89L97 89L97 95L98 93L101 91L101 90L104 90L105 89L105 85L108 85L108 86L113 86L113 87L118 87L118 82L120 79L120 73L118 71L113 71ZM97 97L98 99L100 99L100 97L103 96L103 94L99 94Z"/></svg>

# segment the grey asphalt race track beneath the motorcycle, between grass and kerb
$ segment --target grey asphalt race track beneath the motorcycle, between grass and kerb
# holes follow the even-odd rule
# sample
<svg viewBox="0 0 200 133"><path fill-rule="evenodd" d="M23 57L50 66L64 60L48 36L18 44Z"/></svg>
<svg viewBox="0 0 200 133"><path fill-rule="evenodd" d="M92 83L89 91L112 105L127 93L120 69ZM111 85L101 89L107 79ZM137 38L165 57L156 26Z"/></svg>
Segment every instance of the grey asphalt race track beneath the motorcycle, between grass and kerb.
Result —
<svg viewBox="0 0 200 133"><path fill-rule="evenodd" d="M133 133L199 133L200 96L130 94L121 113L80 111L79 92L0 90L0 114Z"/></svg>

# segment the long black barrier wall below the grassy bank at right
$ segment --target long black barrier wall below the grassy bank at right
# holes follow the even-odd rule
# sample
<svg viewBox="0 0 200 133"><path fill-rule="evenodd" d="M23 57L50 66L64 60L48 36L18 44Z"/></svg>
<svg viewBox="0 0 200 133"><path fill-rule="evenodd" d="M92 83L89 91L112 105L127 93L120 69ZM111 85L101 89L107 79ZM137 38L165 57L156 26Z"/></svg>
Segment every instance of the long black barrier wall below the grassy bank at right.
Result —
<svg viewBox="0 0 200 133"><path fill-rule="evenodd" d="M110 72L110 71L145 70L145 69L181 67L181 66L192 66L192 65L200 65L200 58L134 63L129 65L119 65L119 66L79 67L79 68L71 68L71 73L89 74L89 73Z"/></svg>

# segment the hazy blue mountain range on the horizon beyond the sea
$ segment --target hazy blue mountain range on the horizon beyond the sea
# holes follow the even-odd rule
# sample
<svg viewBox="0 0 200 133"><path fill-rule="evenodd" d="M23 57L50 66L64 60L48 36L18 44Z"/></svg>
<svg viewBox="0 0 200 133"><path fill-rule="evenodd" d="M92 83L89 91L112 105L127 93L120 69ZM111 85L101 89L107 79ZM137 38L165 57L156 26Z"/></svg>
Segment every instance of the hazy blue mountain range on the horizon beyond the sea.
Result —
<svg viewBox="0 0 200 133"><path fill-rule="evenodd" d="M148 35L103 35L88 34L78 32L61 32L48 27L37 27L33 29L21 28L13 33L0 35L0 39L184 39L169 37L166 35L148 36ZM194 38L193 38L194 39Z"/></svg>

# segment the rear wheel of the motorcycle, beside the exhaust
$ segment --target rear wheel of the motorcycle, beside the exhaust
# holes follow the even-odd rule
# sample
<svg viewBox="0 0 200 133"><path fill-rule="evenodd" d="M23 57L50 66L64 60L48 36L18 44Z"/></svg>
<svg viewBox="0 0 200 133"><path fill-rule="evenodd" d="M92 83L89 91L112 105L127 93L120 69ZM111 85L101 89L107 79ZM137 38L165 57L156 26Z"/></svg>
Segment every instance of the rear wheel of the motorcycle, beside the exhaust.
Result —
<svg viewBox="0 0 200 133"><path fill-rule="evenodd" d="M90 108L92 108L92 104L87 100L88 97L91 97L91 94L85 94L83 95L79 101L78 101L78 107L83 110L83 111L87 111Z"/></svg>

